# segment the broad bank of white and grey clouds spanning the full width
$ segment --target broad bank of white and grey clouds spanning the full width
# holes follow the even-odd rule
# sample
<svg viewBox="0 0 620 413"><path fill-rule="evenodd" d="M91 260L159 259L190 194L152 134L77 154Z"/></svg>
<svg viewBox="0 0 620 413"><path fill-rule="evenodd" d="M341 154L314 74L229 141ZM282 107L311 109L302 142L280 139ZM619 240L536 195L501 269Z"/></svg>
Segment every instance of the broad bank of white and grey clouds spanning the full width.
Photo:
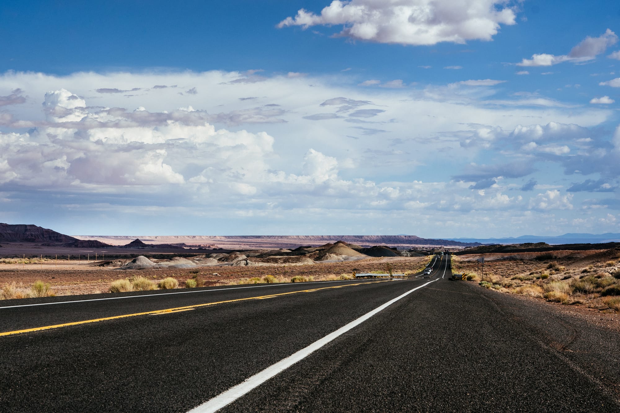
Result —
<svg viewBox="0 0 620 413"><path fill-rule="evenodd" d="M309 233L303 228L314 222L315 233L381 233L413 216L406 231L418 233L446 213L449 223L439 225L458 231L483 223L527 231L541 216L552 230L584 205L606 208L603 198L582 205L578 194L617 185L620 132L596 130L611 111L541 96L496 99L503 83L380 88L358 87L349 74L7 73L0 205L14 216L24 202L84 216L182 213L185 226L219 216L210 223L218 233L226 220L243 223L228 233L269 225ZM540 162L555 167L553 179L538 174ZM557 184L563 174L572 176L570 193ZM489 223L488 211L503 222ZM379 217L370 229L361 224Z"/></svg>

